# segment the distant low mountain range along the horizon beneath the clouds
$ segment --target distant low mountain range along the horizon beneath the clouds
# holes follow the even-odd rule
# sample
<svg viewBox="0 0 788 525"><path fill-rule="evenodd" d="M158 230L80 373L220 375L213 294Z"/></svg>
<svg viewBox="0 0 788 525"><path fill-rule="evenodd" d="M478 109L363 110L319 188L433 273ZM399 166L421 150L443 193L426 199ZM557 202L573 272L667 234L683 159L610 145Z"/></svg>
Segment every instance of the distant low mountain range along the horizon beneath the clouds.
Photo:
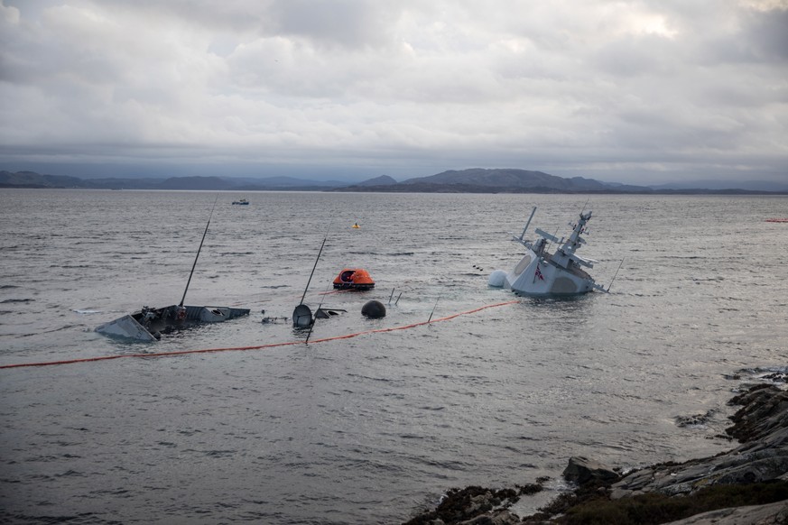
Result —
<svg viewBox="0 0 788 525"><path fill-rule="evenodd" d="M0 171L0 188L75 189L191 189L215 191L376 191L398 193L637 193L637 194L747 194L788 193L788 183L714 181L662 186L633 186L572 177L565 179L542 171L482 169L443 171L430 177L397 182L387 175L355 184L339 180L303 180L292 177L264 179L231 177L172 177L169 179L80 179L42 175L34 171Z"/></svg>

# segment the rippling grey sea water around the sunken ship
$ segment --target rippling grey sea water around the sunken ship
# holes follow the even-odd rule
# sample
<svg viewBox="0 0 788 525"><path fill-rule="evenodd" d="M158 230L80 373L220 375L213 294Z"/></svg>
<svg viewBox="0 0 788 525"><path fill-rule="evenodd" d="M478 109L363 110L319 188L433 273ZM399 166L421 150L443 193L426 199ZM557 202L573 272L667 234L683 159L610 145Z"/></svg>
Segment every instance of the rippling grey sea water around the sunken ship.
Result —
<svg viewBox="0 0 788 525"><path fill-rule="evenodd" d="M0 370L2 520L396 523L450 487L555 493L570 456L728 449L730 392L788 364L788 225L764 222L788 198L768 197L220 193L186 303L252 315L156 344L93 332L180 301L216 196L0 190L0 364L301 341ZM594 211L581 254L606 284L624 259L610 294L308 345L260 322L291 315L324 236L307 302L348 312L313 341L515 299L487 277L534 205L559 236ZM376 289L324 294L346 266Z"/></svg>

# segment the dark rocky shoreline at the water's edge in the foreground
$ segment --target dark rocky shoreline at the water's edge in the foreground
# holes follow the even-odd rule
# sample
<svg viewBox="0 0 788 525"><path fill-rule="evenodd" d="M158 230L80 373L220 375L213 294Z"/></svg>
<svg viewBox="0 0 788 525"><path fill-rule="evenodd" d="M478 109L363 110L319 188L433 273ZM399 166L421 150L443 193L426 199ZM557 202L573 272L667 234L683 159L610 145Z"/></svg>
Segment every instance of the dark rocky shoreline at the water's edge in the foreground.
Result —
<svg viewBox="0 0 788 525"><path fill-rule="evenodd" d="M511 510L547 480L513 488L452 489L406 525L788 523L788 392L761 384L737 395L726 429L740 445L717 456L652 465L627 474L572 457L563 472L577 488L530 516Z"/></svg>

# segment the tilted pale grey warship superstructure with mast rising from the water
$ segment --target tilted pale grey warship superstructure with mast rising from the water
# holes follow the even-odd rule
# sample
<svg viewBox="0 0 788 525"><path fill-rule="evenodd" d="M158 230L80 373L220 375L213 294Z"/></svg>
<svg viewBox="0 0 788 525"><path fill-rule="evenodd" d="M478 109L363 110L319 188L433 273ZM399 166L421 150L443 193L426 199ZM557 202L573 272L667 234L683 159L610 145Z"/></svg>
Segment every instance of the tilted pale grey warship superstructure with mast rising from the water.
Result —
<svg viewBox="0 0 788 525"><path fill-rule="evenodd" d="M529 241L524 236L534 213L536 207L525 223L523 233L519 237L513 235L513 240L526 248L523 259L512 272L493 272L489 278L490 286L503 287L526 296L570 296L592 290L607 291L584 270L593 268L597 261L584 259L575 253L581 245L586 244L580 234L586 231L591 212L579 214L579 221L570 225L572 232L569 238L559 239L536 228L536 235L539 236L535 241ZM549 252L550 243L558 245L553 253Z"/></svg>

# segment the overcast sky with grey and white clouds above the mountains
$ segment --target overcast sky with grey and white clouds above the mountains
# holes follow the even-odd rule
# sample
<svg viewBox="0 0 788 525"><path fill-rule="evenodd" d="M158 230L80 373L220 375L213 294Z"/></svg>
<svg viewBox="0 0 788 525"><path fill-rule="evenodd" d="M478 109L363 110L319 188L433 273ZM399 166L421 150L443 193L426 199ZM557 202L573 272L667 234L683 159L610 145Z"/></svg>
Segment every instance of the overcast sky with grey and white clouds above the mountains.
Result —
<svg viewBox="0 0 788 525"><path fill-rule="evenodd" d="M0 0L0 170L788 180L788 0Z"/></svg>

